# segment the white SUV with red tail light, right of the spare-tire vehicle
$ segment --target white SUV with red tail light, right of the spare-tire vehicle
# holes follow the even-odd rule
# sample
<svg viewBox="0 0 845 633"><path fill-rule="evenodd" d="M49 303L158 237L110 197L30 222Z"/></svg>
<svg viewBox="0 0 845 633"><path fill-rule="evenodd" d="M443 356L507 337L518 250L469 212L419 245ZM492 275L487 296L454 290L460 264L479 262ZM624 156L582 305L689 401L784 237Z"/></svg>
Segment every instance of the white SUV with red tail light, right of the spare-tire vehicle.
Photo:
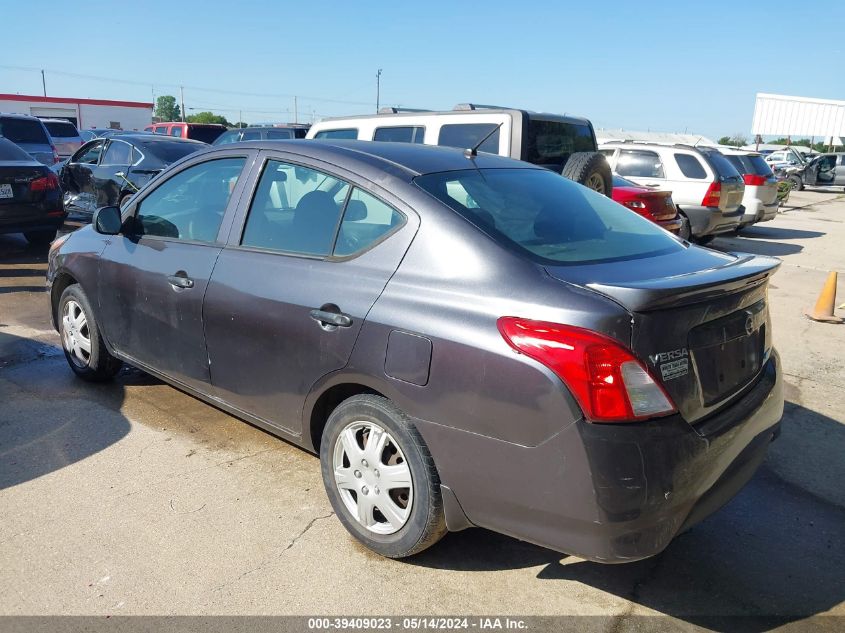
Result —
<svg viewBox="0 0 845 633"><path fill-rule="evenodd" d="M742 176L711 147L639 141L599 147L614 173L638 185L671 191L699 244L735 231L742 219ZM682 236L687 237L687 236Z"/></svg>

